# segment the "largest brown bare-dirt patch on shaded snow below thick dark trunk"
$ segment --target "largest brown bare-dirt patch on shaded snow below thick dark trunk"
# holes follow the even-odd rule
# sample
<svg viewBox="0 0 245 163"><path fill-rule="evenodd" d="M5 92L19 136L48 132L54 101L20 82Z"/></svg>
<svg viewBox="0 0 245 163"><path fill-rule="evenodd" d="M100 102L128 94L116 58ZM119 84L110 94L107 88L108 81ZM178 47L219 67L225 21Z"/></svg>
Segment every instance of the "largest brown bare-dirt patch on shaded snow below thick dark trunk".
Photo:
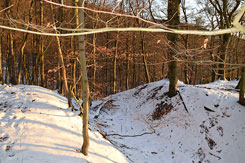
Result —
<svg viewBox="0 0 245 163"><path fill-rule="evenodd" d="M162 101L159 104L156 104L156 109L151 115L152 120L159 120L163 117L163 115L168 114L173 109L172 104L168 104L165 101Z"/></svg>

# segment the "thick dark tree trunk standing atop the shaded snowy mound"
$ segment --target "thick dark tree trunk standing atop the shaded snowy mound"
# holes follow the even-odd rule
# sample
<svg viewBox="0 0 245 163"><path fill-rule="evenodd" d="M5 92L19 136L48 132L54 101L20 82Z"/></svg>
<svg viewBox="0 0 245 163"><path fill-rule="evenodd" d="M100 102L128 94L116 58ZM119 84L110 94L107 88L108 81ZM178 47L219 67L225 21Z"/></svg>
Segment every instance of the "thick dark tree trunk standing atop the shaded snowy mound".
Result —
<svg viewBox="0 0 245 163"><path fill-rule="evenodd" d="M178 28L180 24L180 0L168 0L168 20L169 24ZM169 43L168 59L168 74L169 74L169 91L168 96L173 97L177 94L177 83L178 83L178 67L177 61L174 59L176 54L175 50L178 49L177 40L178 35L169 33L167 35Z"/></svg>

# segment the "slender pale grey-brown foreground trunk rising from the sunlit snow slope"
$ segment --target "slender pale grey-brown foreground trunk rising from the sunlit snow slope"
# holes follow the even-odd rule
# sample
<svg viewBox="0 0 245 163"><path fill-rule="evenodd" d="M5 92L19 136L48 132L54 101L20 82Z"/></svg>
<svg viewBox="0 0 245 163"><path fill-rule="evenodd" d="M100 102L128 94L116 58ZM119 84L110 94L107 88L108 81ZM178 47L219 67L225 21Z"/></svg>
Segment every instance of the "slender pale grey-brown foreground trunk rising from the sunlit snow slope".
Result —
<svg viewBox="0 0 245 163"><path fill-rule="evenodd" d="M75 0L76 6L84 6L83 0ZM76 9L77 10L77 9ZM80 29L84 29L85 27L85 19L84 19L84 11L79 10L78 18ZM81 64L81 74L82 74L82 88L83 88L83 145L81 148L81 152L84 155L88 155L89 148L89 135L88 135L88 114L89 114L89 85L88 85L88 76L87 76L87 67L86 67L86 57L85 57L85 43L84 36L80 35L79 39L79 59Z"/></svg>

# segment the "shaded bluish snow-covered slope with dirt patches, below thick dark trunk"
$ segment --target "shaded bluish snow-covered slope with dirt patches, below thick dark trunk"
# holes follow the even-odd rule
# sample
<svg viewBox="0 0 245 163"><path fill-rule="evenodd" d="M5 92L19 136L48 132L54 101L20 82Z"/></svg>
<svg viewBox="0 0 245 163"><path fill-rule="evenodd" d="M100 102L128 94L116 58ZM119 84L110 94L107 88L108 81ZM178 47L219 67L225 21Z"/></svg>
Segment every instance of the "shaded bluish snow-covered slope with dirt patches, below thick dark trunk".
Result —
<svg viewBox="0 0 245 163"><path fill-rule="evenodd" d="M166 96L167 80L143 85L93 102L91 127L130 162L242 163L245 107L237 103L236 84L179 83L182 99Z"/></svg>

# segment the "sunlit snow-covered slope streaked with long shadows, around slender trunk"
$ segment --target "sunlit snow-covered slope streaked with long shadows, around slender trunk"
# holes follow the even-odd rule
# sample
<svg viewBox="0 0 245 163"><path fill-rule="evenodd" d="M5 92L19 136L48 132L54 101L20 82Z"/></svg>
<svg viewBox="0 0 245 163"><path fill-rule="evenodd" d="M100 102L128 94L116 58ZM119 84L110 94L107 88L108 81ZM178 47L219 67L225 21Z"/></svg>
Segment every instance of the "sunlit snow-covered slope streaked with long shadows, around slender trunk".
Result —
<svg viewBox="0 0 245 163"><path fill-rule="evenodd" d="M128 162L98 132L90 132L89 156L82 145L82 121L66 99L37 86L0 86L0 163Z"/></svg>

